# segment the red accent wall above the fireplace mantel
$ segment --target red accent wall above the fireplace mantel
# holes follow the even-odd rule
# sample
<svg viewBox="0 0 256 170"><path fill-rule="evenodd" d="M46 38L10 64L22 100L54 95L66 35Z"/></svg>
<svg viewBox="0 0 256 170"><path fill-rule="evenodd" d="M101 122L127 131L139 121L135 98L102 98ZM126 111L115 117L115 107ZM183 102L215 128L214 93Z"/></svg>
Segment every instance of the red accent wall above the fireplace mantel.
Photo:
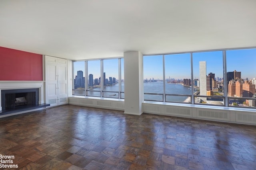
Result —
<svg viewBox="0 0 256 170"><path fill-rule="evenodd" d="M0 47L0 80L43 80L43 56Z"/></svg>

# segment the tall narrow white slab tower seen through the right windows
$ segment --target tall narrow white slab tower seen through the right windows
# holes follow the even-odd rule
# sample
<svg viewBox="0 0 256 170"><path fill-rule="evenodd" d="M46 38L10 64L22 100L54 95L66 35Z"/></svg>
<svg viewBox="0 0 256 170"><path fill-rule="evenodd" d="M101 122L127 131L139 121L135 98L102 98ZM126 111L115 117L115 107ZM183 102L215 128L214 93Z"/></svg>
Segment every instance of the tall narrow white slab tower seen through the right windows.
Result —
<svg viewBox="0 0 256 170"><path fill-rule="evenodd" d="M206 61L199 61L200 95L206 96ZM201 98L206 101L206 98Z"/></svg>

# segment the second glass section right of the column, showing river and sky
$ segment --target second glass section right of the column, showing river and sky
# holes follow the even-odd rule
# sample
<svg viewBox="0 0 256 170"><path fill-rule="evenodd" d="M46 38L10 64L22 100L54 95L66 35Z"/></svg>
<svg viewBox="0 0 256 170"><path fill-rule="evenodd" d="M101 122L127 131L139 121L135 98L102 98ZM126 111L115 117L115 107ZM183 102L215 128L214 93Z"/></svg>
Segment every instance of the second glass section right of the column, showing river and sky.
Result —
<svg viewBox="0 0 256 170"><path fill-rule="evenodd" d="M192 94L190 58L190 53L164 56L166 94ZM190 98L166 96L166 102L184 102L185 100L190 101Z"/></svg>

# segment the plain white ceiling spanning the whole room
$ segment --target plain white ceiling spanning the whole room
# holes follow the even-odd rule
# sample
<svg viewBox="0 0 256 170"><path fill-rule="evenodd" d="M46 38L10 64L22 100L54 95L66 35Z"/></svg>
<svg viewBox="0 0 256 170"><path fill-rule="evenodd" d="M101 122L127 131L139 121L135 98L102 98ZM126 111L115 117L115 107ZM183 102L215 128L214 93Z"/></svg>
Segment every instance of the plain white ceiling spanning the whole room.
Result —
<svg viewBox="0 0 256 170"><path fill-rule="evenodd" d="M72 60L256 47L256 0L0 0L0 47Z"/></svg>

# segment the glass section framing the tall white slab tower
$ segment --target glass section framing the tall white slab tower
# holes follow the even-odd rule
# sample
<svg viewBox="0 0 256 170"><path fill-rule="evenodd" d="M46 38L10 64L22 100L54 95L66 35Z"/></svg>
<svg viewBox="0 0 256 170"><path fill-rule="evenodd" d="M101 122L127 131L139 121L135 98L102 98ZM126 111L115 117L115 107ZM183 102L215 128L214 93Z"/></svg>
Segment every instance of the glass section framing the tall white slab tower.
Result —
<svg viewBox="0 0 256 170"><path fill-rule="evenodd" d="M193 75L194 83L198 87L196 95L224 96L222 51L193 53ZM195 103L224 105L224 100L200 97L195 99Z"/></svg>

